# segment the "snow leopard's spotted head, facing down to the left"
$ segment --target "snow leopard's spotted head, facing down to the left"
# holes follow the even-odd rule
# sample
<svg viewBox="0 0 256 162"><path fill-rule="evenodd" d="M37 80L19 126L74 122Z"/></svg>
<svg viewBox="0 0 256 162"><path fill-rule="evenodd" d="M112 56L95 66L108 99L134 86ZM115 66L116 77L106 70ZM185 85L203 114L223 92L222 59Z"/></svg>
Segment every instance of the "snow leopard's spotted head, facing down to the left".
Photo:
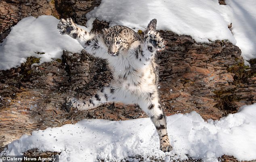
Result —
<svg viewBox="0 0 256 162"><path fill-rule="evenodd" d="M114 26L103 29L105 44L108 53L112 56L118 56L120 51L127 49L133 39L134 31L124 26Z"/></svg>

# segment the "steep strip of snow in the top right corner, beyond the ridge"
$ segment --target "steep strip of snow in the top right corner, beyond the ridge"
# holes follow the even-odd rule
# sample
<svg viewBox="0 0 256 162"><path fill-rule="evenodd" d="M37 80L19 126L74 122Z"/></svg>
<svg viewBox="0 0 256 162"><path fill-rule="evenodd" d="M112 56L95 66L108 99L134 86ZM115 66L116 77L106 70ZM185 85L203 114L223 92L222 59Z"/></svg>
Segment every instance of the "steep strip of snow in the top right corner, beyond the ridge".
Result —
<svg viewBox="0 0 256 162"><path fill-rule="evenodd" d="M245 60L256 58L256 1L227 0L233 9L232 32Z"/></svg>

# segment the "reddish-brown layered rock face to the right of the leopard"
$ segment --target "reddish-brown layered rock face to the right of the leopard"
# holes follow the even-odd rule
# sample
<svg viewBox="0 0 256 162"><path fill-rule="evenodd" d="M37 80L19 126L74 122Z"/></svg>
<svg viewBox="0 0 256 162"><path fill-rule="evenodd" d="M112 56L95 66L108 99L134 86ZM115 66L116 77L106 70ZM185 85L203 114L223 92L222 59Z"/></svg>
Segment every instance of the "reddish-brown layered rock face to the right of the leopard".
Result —
<svg viewBox="0 0 256 162"><path fill-rule="evenodd" d="M158 55L159 90L170 114L193 110L205 119L219 119L256 102L256 78L251 77L255 69L243 66L237 46L225 41L199 44L168 31L161 34L168 47Z"/></svg>

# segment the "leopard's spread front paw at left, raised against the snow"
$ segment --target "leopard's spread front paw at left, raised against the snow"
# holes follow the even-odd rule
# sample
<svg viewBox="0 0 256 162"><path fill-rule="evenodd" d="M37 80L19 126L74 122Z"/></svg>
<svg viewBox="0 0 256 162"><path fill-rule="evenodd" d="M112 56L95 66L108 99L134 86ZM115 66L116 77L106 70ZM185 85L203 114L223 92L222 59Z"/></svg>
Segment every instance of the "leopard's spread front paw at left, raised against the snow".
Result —
<svg viewBox="0 0 256 162"><path fill-rule="evenodd" d="M76 29L76 24L71 18L68 18L67 20L61 19L58 23L57 29L59 29L61 35L70 35L72 31Z"/></svg>

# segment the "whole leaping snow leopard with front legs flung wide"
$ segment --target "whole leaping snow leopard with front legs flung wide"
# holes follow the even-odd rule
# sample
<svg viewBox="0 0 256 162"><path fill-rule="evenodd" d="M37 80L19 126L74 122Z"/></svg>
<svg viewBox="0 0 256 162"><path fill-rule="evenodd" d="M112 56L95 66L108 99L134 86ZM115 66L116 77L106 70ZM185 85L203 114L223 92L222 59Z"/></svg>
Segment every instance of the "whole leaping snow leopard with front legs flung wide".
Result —
<svg viewBox="0 0 256 162"><path fill-rule="evenodd" d="M170 152L166 130L166 116L158 96L158 65L156 51L164 50L164 39L156 31L157 20L147 25L143 35L126 26L116 25L89 32L78 27L71 18L61 19L57 25L62 35L76 39L92 56L106 59L113 79L87 101L72 98L78 110L88 110L107 102L138 104L151 118L159 135L163 152Z"/></svg>

